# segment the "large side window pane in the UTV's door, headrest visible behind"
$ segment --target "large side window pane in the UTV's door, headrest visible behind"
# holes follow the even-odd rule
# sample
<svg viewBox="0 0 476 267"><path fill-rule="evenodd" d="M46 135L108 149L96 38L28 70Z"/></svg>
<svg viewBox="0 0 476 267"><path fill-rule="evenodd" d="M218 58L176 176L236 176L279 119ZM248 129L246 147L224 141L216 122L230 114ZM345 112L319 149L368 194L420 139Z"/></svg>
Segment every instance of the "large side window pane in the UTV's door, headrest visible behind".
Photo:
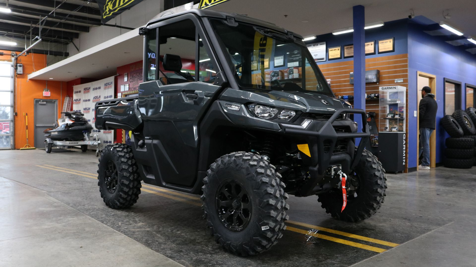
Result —
<svg viewBox="0 0 476 267"><path fill-rule="evenodd" d="M159 80L162 84L195 81L195 38L192 20L182 20L159 28ZM177 62L171 62L164 68L165 55L179 56L181 67Z"/></svg>

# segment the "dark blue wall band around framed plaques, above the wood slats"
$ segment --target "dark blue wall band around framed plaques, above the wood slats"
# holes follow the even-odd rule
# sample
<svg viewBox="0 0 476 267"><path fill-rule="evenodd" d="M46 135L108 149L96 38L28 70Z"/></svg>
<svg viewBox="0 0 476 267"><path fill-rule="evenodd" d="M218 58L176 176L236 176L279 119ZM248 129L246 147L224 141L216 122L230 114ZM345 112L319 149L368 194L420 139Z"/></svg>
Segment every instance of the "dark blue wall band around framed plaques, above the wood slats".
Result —
<svg viewBox="0 0 476 267"><path fill-rule="evenodd" d="M327 33L327 34L318 35L316 39L306 41L306 43L309 44L309 43L315 43L315 42L326 42L326 61L320 61L320 62L317 62L317 64L336 63L341 61L354 60L354 58L327 60L327 49L329 47L341 46L342 57L344 57L344 51L343 51L344 45L349 45L353 43L352 36L353 36L352 32L338 34L338 35ZM395 38L395 52L379 54L378 40L391 38L391 37ZM375 40L375 51L376 51L375 55L365 56L366 58L406 54L408 52L407 19L385 22L385 25L382 27L367 29L365 30L365 40L367 42Z"/></svg>

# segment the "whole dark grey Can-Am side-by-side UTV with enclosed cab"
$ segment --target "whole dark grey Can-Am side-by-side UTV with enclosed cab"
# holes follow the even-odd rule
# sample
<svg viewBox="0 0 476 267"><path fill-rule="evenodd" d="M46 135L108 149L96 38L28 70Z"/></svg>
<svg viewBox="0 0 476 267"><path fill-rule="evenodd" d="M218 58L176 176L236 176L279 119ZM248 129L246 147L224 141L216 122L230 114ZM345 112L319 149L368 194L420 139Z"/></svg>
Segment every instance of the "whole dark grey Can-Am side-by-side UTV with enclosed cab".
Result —
<svg viewBox="0 0 476 267"><path fill-rule="evenodd" d="M288 194L318 195L345 221L380 208L386 177L364 149L365 112L334 96L301 36L209 10L152 20L139 34L139 96L95 108L98 129L131 131L130 146L102 150L106 205L132 206L141 180L202 194L212 236L237 255L258 254L282 237ZM351 114L360 114L359 124Z"/></svg>

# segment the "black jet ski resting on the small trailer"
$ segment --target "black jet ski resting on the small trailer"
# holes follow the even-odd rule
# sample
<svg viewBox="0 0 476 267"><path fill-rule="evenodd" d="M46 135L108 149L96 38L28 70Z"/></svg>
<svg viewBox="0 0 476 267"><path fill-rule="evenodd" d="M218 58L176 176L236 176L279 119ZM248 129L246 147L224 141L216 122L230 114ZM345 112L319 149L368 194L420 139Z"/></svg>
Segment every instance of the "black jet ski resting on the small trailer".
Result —
<svg viewBox="0 0 476 267"><path fill-rule="evenodd" d="M44 130L46 138L55 141L82 141L92 131L92 126L84 118L83 113L77 111L61 112L65 118L58 119L58 127Z"/></svg>

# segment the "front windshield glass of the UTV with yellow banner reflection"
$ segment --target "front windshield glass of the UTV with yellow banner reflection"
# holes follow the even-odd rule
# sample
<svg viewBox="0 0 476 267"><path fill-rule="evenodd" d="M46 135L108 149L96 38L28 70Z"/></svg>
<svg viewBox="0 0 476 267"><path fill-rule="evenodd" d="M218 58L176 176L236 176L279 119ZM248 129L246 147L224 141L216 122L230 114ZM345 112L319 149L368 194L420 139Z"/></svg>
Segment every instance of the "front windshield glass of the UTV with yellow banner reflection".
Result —
<svg viewBox="0 0 476 267"><path fill-rule="evenodd" d="M243 88L314 91L333 96L301 40L250 24L210 20ZM312 64L311 64L311 63Z"/></svg>

